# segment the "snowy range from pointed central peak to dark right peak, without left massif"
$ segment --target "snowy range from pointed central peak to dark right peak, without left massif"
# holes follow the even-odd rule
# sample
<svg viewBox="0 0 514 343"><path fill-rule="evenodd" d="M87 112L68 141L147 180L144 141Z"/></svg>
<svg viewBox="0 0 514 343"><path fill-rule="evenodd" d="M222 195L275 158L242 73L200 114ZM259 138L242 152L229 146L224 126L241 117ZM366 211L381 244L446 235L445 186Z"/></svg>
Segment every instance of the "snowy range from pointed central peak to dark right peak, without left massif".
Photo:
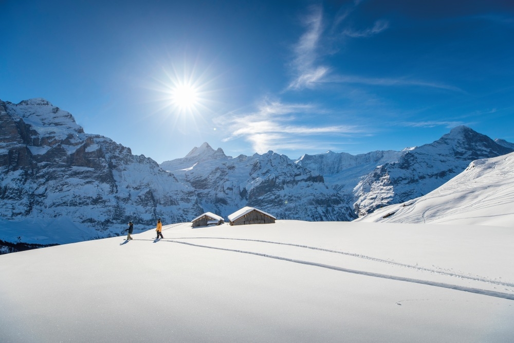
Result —
<svg viewBox="0 0 514 343"><path fill-rule="evenodd" d="M512 151L461 126L421 147L360 155L328 151L296 161L271 151L232 158L204 143L161 167L190 184L203 208L219 215L251 206L279 219L353 220L431 192L474 159Z"/></svg>

